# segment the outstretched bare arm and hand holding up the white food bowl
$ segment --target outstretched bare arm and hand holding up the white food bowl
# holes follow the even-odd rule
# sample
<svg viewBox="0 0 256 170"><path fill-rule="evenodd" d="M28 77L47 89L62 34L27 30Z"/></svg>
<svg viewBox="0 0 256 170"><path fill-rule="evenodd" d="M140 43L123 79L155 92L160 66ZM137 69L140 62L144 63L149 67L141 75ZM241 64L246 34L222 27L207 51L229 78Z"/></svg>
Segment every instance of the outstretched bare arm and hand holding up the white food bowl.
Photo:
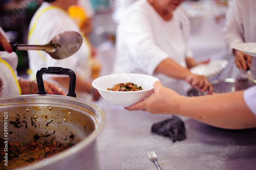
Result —
<svg viewBox="0 0 256 170"><path fill-rule="evenodd" d="M125 109L190 117L224 129L247 129L256 128L255 104L256 86L245 91L191 98L156 81L150 98Z"/></svg>

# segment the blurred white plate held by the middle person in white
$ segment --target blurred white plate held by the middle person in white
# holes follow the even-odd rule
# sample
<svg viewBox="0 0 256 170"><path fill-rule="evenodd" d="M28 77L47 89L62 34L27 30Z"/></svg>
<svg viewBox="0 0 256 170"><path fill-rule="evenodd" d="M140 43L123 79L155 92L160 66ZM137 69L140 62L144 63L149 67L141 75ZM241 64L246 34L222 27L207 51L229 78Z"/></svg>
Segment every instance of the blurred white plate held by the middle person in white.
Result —
<svg viewBox="0 0 256 170"><path fill-rule="evenodd" d="M207 64L200 64L190 69L193 74L203 75L206 77L214 76L218 74L221 70L223 70L227 66L227 60L214 60L210 61Z"/></svg>

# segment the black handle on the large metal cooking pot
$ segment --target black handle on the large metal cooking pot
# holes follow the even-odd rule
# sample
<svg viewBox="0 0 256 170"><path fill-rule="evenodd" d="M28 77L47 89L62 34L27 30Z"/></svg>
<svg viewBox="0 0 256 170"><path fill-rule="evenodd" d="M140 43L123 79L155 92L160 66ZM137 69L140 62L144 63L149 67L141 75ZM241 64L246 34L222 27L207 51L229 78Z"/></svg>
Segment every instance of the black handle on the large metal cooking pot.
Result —
<svg viewBox="0 0 256 170"><path fill-rule="evenodd" d="M76 97L75 88L76 88L76 74L72 69L62 68L62 67L47 67L41 68L36 72L36 82L38 86L37 94L46 94L44 81L42 81L42 75L68 75L70 78L69 81L69 93L68 96Z"/></svg>

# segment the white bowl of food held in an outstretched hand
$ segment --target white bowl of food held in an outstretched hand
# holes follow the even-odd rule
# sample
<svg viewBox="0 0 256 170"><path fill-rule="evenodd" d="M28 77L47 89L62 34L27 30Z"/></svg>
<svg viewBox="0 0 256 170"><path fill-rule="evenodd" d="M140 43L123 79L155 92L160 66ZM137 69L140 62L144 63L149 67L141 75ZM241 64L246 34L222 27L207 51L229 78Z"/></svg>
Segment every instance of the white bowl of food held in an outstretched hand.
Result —
<svg viewBox="0 0 256 170"><path fill-rule="evenodd" d="M92 85L96 88L103 99L116 106L129 107L145 98L151 96L154 91L154 82L159 81L157 78L142 74L117 74L108 75L97 78ZM141 86L143 90L139 91L111 91L106 90L112 88L118 83L131 82Z"/></svg>

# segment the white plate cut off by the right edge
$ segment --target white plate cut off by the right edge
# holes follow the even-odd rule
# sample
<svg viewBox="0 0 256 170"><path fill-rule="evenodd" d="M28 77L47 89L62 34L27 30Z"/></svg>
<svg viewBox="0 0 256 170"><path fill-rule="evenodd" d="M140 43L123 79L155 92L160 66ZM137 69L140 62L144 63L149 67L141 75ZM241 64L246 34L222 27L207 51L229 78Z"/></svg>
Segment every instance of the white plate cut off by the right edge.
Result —
<svg viewBox="0 0 256 170"><path fill-rule="evenodd" d="M234 43L232 48L242 51L250 56L256 57L256 42Z"/></svg>

